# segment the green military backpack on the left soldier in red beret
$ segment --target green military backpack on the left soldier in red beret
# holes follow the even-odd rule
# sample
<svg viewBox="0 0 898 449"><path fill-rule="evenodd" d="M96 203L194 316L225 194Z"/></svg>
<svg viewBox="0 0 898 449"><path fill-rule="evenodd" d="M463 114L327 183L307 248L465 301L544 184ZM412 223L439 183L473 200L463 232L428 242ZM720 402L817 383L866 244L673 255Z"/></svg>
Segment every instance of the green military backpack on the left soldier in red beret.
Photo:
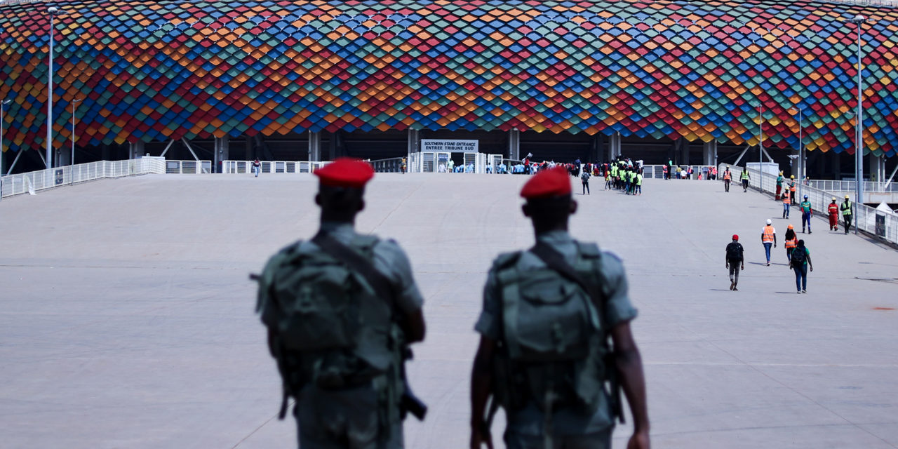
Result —
<svg viewBox="0 0 898 449"><path fill-rule="evenodd" d="M359 235L348 246L371 260L377 242ZM257 312L275 336L272 354L285 383L282 414L286 397L304 384L339 389L369 383L401 357L392 304L365 277L308 243L296 242L266 264Z"/></svg>

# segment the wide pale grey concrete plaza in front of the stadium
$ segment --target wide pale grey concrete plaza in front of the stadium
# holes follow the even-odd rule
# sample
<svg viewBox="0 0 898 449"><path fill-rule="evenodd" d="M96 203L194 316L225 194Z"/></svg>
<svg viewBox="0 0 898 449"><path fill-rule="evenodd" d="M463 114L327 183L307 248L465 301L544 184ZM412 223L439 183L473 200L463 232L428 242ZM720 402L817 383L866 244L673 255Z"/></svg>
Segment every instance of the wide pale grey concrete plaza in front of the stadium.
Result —
<svg viewBox="0 0 898 449"><path fill-rule="evenodd" d="M533 242L524 180L370 185L358 227L401 242L427 298L409 371L430 414L406 424L410 448L466 445L485 270ZM647 180L641 197L593 188L572 230L629 269L655 447L898 447L898 311L881 310L898 308L898 252L815 220L815 270L796 295L781 243L762 265L764 220L785 232L779 203L711 181ZM4 199L0 446L295 445L294 424L275 418L247 274L312 235L314 189L304 175L147 175ZM724 268L733 233L748 258L739 292Z"/></svg>

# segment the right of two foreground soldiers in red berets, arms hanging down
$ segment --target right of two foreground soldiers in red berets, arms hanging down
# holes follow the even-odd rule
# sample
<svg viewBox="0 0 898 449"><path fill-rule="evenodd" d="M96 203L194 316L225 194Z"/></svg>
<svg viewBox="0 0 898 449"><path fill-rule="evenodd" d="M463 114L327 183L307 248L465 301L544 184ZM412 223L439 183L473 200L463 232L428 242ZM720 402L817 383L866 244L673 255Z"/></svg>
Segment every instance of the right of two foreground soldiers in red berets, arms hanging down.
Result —
<svg viewBox="0 0 898 449"><path fill-rule="evenodd" d="M616 256L568 234L568 216L577 211L570 182L556 168L524 184L524 216L533 222L536 245L499 255L489 270L475 326L471 449L492 447L489 424L499 406L506 410L508 449L610 447L614 418L622 418L620 387L633 413L629 447L648 448L627 277Z"/></svg>

